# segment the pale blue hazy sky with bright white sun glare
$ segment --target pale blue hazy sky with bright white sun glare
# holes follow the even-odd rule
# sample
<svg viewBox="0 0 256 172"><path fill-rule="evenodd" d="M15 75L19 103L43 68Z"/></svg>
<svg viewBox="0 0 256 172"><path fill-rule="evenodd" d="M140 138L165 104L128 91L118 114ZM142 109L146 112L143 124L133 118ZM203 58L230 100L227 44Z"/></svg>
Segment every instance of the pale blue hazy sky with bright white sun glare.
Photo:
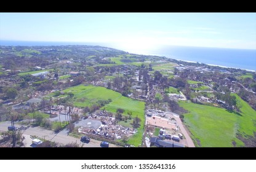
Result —
<svg viewBox="0 0 256 172"><path fill-rule="evenodd" d="M256 13L0 13L0 40L256 49Z"/></svg>

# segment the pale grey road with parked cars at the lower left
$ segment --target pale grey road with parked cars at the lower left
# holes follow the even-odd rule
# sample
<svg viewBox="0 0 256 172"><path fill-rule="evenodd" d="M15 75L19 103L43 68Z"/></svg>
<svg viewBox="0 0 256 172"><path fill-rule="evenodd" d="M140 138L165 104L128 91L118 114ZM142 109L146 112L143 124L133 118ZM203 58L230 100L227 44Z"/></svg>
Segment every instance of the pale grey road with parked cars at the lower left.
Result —
<svg viewBox="0 0 256 172"><path fill-rule="evenodd" d="M9 121L1 122L0 131L7 131L8 126L10 126ZM20 125L15 124L15 127L20 127ZM100 147L100 143L102 142L95 139L90 139L89 143L82 144L80 139L68 136L65 132L60 131L59 133L55 133L54 131L45 130L41 127L30 127L22 131L23 131L23 135L30 135L30 136L34 135L34 136L38 136L39 138L47 139L49 141L55 141L55 143L60 143L60 144L78 143L78 144L81 144L82 147ZM26 143L26 145L28 145L28 143ZM114 144L110 144L110 147L118 147L118 146Z"/></svg>

